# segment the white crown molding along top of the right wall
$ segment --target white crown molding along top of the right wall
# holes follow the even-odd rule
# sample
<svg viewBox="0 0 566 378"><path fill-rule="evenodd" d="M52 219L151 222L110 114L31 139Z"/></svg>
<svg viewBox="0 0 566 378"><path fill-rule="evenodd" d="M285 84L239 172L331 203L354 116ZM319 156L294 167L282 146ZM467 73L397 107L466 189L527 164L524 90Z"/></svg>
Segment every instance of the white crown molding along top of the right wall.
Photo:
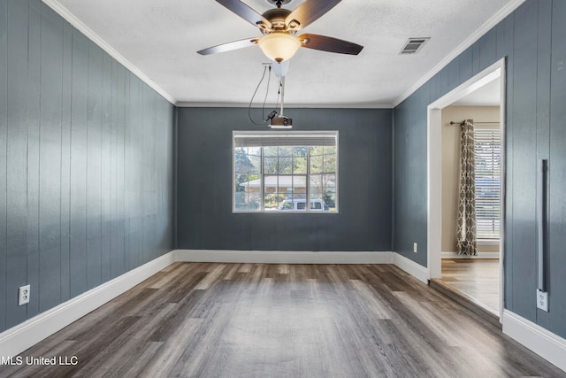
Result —
<svg viewBox="0 0 566 378"><path fill-rule="evenodd" d="M463 51L468 49L472 44L477 42L479 38L481 38L493 27L499 24L503 19L509 16L509 14L515 12L515 10L519 6L521 6L521 4L523 4L525 1L526 0L512 0L509 2L509 4L501 8L499 12L495 13L492 18L488 19L486 23L484 23L481 27L478 28L478 30L476 30L468 38L466 38L464 42L460 43L460 45L458 45L458 47L456 47L455 50L449 53L444 59L440 60L440 62L436 66L434 66L431 71L426 73L419 81L415 82L415 84L412 87L410 87L405 93L403 93L402 96L397 98L394 101L394 107L398 106L407 98L409 98L409 96L415 93L417 89L421 88L426 83L426 81L431 80L435 74L440 73L440 71L445 66L447 66L448 63L450 63L452 60L457 58L460 54L463 53Z"/></svg>

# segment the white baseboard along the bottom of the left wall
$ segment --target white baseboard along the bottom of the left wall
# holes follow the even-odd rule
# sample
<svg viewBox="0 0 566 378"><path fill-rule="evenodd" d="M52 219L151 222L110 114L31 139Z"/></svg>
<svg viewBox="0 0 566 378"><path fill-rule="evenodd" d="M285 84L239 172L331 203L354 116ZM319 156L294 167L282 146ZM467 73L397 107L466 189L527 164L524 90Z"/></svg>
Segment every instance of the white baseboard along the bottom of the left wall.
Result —
<svg viewBox="0 0 566 378"><path fill-rule="evenodd" d="M169 252L0 334L0 357L14 357L173 263Z"/></svg>

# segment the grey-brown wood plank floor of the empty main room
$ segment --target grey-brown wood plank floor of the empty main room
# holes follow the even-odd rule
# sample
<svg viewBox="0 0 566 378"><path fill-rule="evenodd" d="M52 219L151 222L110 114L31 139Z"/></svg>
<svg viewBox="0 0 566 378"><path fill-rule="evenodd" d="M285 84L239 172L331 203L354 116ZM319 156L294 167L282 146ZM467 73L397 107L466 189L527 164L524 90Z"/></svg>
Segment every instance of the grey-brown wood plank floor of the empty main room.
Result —
<svg viewBox="0 0 566 378"><path fill-rule="evenodd" d="M176 263L29 356L78 363L0 376L566 376L391 265Z"/></svg>

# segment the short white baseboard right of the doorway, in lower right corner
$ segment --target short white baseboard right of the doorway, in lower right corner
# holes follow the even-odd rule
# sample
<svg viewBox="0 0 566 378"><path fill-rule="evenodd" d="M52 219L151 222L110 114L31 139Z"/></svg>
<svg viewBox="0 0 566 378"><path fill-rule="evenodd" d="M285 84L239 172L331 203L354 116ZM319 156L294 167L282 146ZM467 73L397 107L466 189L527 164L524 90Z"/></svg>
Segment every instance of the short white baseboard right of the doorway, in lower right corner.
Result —
<svg viewBox="0 0 566 378"><path fill-rule="evenodd" d="M509 310L503 311L503 333L566 372L566 339Z"/></svg>

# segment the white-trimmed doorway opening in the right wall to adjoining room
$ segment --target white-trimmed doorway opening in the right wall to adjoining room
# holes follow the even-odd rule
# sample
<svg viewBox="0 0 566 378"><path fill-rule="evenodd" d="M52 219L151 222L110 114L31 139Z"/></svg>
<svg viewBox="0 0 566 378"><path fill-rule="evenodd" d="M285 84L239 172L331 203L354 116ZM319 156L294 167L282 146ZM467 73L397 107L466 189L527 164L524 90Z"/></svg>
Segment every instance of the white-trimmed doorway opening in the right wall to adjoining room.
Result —
<svg viewBox="0 0 566 378"><path fill-rule="evenodd" d="M505 61L501 59L482 73L430 104L428 107L428 270L429 279L442 280L472 302L501 319L503 300L503 200ZM457 255L455 212L457 188L454 173L459 169L459 144L455 135L459 122L475 119L486 134L501 136L501 171L498 239L478 237L478 256ZM449 121L455 124L450 125ZM450 128L451 127L451 128ZM443 140L444 139L444 140ZM459 140L456 139L457 142ZM448 164L447 164L448 163ZM454 166L456 164L456 166ZM478 164L478 163L477 163ZM457 181L457 180L456 180ZM480 214L480 216L482 216ZM478 221L478 216L476 218ZM486 226L484 220L480 220ZM497 226L497 227L495 227ZM464 257L465 259L462 259ZM444 274L443 274L444 270Z"/></svg>

